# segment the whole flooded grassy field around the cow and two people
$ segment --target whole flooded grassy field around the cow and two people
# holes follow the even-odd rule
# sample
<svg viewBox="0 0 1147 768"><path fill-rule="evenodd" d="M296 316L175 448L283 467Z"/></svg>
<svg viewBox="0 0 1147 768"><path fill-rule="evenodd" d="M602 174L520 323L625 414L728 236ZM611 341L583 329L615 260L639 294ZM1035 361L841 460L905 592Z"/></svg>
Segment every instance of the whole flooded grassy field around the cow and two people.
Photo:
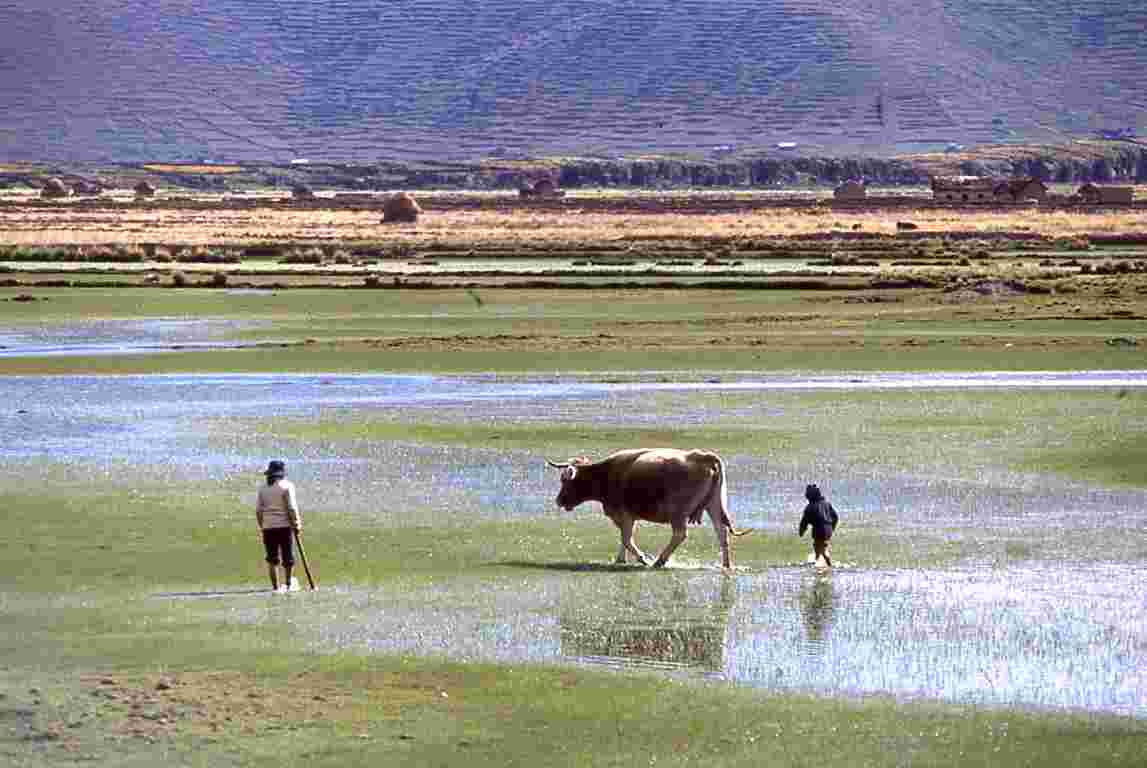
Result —
<svg viewBox="0 0 1147 768"><path fill-rule="evenodd" d="M5 377L6 483L63 468L147 499L170 477L223 503L190 524L203 546L212 526L249 535L237 578L143 573L115 599L190 602L205 626L280 627L312 652L1147 718L1141 371L624 378ZM665 572L612 566L596 509L554 509L544 457L662 444L725 455L755 530L733 573L708 528ZM321 573L288 608L251 591L242 520L267 456L291 468ZM806 481L842 512L829 574L795 536Z"/></svg>

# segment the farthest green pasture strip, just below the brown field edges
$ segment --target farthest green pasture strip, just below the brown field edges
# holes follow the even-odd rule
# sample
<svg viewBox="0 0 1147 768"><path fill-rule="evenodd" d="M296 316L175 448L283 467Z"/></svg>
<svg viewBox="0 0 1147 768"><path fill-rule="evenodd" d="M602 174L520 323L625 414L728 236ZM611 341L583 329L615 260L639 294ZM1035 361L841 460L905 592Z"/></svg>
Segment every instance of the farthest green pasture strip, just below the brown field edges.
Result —
<svg viewBox="0 0 1147 768"><path fill-rule="evenodd" d="M309 329L337 331L350 323L356 332L388 336L406 328L434 335L468 324L474 335L528 332L529 329L580 335L587 329L634 337L682 336L715 332L799 331L863 324L882 332L952 335L1089 335L1133 330L1133 318L1107 316L1093 299L1072 297L1086 305L1083 318L1046 297L1009 297L994 304L945 305L927 289L869 291L875 298L896 300L851 304L857 291L711 290L688 289L263 289L202 288L0 288L0 321L67 323L85 319L180 318L271 320L283 338L302 338ZM10 300L28 297L33 300ZM1016 318L1015 313L1021 316ZM1050 316L1035 316L1031 313ZM350 334L344 334L349 336Z"/></svg>

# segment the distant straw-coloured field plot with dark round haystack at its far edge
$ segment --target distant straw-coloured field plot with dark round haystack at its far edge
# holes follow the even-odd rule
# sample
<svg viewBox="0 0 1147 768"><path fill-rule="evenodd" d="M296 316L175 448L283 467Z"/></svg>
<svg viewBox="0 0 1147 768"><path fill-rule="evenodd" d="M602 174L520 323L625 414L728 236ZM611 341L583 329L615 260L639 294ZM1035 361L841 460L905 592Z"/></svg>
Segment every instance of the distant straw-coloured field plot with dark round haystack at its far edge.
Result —
<svg viewBox="0 0 1147 768"><path fill-rule="evenodd" d="M139 204L126 207L78 206L69 202L56 205L0 207L0 243L13 245L63 244L226 244L262 240L315 241L409 241L420 245L466 243L483 245L504 242L634 242L681 238L732 240L795 236L838 232L852 237L897 234L897 220L911 219L924 233L963 233L985 235L1027 233L1050 237L1082 236L1091 233L1147 232L1147 211L1140 209L1093 210L1052 209L1007 210L944 209L927 206L912 210L879 207L818 207L810 198L806 205L748 205L751 201L767 203L768 193L717 194L648 194L648 193L579 193L562 201L561 206L540 209L514 205L499 209L483 205L516 195L442 194L420 196L426 213L416 226L383 226L381 206L384 194L374 198L374 210L335 206L236 206L219 196L209 196L200 204L187 206ZM194 199L194 198L189 198ZM239 199L239 198L234 198ZM259 196L248 198L258 203ZM280 197L280 199L282 199ZM474 205L465 204L475 201ZM742 211L723 211L742 199ZM439 203L440 201L440 203ZM642 210L642 201L661 201L651 212ZM680 205L674 204L680 201ZM707 202L708 201L708 202ZM585 204L584 210L579 204ZM630 206L632 203L633 206ZM442 207L437 207L437 205ZM668 206L668 210L665 207ZM707 212L707 207L710 211ZM612 211L610 209L614 209ZM677 210L679 209L679 210ZM688 215L681 215L687 213Z"/></svg>

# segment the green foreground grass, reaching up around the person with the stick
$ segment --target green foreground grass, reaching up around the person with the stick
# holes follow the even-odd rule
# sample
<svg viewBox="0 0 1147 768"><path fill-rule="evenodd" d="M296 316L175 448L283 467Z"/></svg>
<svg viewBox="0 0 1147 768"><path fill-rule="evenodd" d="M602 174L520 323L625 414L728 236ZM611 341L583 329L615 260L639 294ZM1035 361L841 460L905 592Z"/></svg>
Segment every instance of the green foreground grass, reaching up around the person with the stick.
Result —
<svg viewBox="0 0 1147 768"><path fill-rule="evenodd" d="M44 487L8 487L5 495L0 683L8 693L0 699L7 713L0 758L7 765L70 765L87 755L92 765L270 766L286 757L288 765L319 767L908 761L1055 768L1129 765L1147 738L1147 726L1121 718L820 699L532 665L315 655L291 616L322 593L252 609L267 612L256 625L220 621L210 601L148 597L244 580L262 585L250 510L234 503L237 486L189 499L138 478L130 488L48 478ZM850 531L836 555L869 566L930 557L927 541L910 550L885 539ZM508 539L506 526L493 524L377 530L343 523L315 534L311 556L320 581L369 583L385 594L475 569L520 578L523 558L545 565L596 550L603 561L612 546L608 528L588 516L515 524ZM931 555L945 546L937 539ZM749 536L738 542L738 557L766 567L798 559L805 548L795 536Z"/></svg>

